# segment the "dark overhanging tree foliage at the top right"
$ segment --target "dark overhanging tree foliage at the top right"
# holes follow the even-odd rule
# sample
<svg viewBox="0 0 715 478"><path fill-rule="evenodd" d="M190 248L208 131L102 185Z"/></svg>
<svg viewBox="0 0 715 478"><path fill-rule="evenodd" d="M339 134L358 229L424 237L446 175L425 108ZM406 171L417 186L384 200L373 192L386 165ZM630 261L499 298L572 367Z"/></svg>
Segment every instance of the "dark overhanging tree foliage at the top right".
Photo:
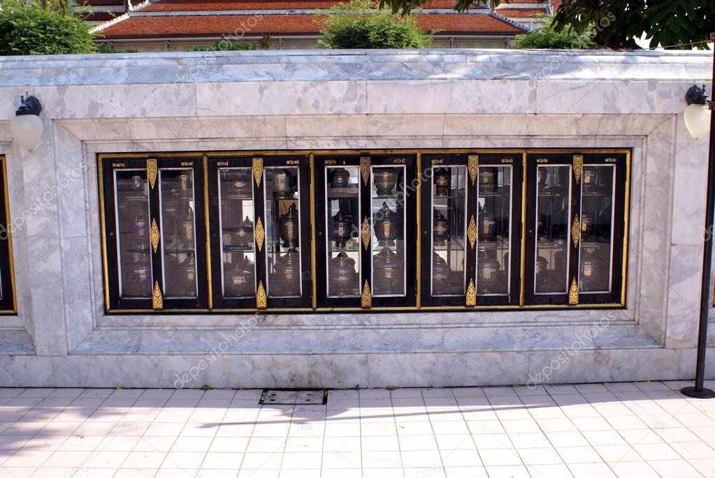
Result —
<svg viewBox="0 0 715 478"><path fill-rule="evenodd" d="M393 13L408 14L427 0L380 0ZM477 3L487 3L478 0ZM492 0L499 4L500 0ZM505 0L506 1L506 0ZM455 0L455 10L465 11L473 0ZM507 1L508 3L508 1ZM715 32L713 0L563 0L553 21L554 30L583 34L595 29L593 41L612 49L638 48L645 37L651 46L691 49L702 47Z"/></svg>

